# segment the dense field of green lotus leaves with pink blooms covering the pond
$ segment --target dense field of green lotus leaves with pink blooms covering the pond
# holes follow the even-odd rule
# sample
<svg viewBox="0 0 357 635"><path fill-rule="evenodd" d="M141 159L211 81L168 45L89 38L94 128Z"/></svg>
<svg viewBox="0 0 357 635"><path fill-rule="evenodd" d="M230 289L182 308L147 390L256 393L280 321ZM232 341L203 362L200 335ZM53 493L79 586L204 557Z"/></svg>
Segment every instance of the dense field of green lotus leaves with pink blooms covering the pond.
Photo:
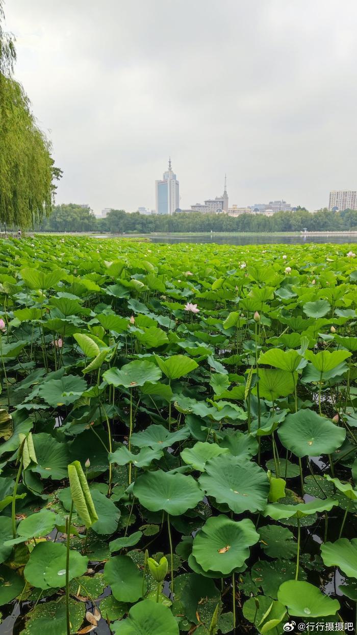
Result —
<svg viewBox="0 0 357 635"><path fill-rule="evenodd" d="M1 242L2 632L354 632L355 248Z"/></svg>

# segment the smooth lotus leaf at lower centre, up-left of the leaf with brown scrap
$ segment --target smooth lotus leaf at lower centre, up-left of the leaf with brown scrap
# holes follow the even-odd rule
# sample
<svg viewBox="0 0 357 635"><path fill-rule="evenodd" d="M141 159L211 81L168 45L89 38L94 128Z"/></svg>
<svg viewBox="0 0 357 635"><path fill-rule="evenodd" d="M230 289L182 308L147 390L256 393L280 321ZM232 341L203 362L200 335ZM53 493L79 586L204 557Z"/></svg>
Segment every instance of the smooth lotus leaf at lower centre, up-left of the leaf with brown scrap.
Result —
<svg viewBox="0 0 357 635"><path fill-rule="evenodd" d="M134 483L134 495L152 512L162 509L172 516L185 514L203 498L197 481L184 474L168 474L162 470L146 472Z"/></svg>

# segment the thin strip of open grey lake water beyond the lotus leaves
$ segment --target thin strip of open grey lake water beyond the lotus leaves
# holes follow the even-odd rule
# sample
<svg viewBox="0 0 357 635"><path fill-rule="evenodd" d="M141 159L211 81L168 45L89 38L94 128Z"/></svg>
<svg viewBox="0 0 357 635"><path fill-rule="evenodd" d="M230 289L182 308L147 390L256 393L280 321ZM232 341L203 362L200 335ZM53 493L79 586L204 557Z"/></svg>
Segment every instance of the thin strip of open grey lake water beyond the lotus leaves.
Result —
<svg viewBox="0 0 357 635"><path fill-rule="evenodd" d="M107 235L98 234L97 238L107 238ZM118 237L123 237L121 234ZM150 243L217 243L217 244L305 244L305 243L357 243L357 233L353 234L302 234L286 236L276 234L186 234L174 236L164 234L163 236L151 236L150 234L124 234L124 237L143 238Z"/></svg>

